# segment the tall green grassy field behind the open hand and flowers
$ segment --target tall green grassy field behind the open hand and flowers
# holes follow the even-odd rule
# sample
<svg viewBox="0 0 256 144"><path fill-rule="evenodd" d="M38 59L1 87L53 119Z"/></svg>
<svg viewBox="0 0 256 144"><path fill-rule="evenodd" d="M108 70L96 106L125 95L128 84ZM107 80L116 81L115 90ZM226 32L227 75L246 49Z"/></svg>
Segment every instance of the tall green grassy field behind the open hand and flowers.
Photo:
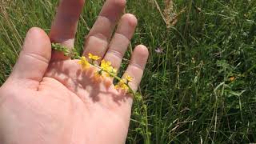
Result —
<svg viewBox="0 0 256 144"><path fill-rule="evenodd" d="M58 1L0 2L1 86L26 31L49 32ZM87 0L76 47L102 3ZM256 142L256 1L174 0L174 10L165 9L164 0L127 2L139 22L131 47L150 49L139 90L144 106L134 105L127 143ZM168 18L178 21L169 26Z"/></svg>

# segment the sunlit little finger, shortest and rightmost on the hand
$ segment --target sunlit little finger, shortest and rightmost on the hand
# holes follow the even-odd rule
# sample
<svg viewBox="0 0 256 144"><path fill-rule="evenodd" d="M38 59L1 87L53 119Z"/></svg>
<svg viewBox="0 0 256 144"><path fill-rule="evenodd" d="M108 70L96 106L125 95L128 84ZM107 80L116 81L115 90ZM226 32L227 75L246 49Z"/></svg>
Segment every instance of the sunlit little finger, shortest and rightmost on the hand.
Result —
<svg viewBox="0 0 256 144"><path fill-rule="evenodd" d="M149 56L149 51L146 46L139 45L134 49L132 58L130 60L130 65L128 66L125 74L133 78L132 82L129 83L132 90L137 91L138 85L142 80L143 71L146 66L146 61Z"/></svg>

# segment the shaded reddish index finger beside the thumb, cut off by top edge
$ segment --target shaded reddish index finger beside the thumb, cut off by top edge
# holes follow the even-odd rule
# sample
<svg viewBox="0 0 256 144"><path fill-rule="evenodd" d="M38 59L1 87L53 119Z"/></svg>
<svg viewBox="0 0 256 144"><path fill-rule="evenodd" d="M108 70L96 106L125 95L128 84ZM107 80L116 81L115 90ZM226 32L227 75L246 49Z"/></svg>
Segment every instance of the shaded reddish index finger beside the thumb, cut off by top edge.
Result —
<svg viewBox="0 0 256 144"><path fill-rule="evenodd" d="M74 37L84 2L85 0L61 0L50 30L51 42L74 47ZM66 59L59 53L54 53L53 58Z"/></svg>

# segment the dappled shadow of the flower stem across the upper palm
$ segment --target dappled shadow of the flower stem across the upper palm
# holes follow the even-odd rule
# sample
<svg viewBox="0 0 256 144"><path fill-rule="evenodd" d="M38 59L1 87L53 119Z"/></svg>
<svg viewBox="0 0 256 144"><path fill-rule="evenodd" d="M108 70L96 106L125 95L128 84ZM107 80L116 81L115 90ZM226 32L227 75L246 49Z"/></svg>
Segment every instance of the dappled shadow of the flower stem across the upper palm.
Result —
<svg viewBox="0 0 256 144"><path fill-rule="evenodd" d="M45 76L58 80L82 102L101 102L101 98L105 98L121 106L131 98L124 90L116 90L111 78L96 78L96 70L96 67L82 70L78 60L65 60L51 62Z"/></svg>

